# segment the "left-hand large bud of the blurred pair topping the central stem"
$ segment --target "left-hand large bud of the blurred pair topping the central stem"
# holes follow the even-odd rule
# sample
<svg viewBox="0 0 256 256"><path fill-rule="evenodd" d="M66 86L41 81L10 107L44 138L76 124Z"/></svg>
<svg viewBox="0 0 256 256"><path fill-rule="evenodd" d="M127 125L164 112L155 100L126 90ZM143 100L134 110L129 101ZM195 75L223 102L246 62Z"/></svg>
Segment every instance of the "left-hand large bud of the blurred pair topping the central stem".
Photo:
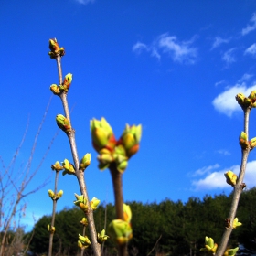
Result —
<svg viewBox="0 0 256 256"><path fill-rule="evenodd" d="M92 119L90 121L90 129L92 144L97 152L99 152L102 147L107 147L108 149L114 147L115 139L112 133L112 127L103 117L101 121Z"/></svg>

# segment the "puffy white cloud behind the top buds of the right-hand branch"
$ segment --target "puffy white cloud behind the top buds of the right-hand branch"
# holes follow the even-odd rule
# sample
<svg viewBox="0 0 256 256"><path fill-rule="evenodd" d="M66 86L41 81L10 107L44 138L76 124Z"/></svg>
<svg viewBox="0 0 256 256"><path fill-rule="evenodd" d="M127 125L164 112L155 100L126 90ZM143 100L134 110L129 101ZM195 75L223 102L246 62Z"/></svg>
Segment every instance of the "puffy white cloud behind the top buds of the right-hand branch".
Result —
<svg viewBox="0 0 256 256"><path fill-rule="evenodd" d="M238 93L243 93L245 96L250 95L251 91L256 90L256 85L246 87L245 83L236 84L228 90L220 93L213 101L214 108L228 116L232 116L234 112L241 110L240 105L235 99Z"/></svg>

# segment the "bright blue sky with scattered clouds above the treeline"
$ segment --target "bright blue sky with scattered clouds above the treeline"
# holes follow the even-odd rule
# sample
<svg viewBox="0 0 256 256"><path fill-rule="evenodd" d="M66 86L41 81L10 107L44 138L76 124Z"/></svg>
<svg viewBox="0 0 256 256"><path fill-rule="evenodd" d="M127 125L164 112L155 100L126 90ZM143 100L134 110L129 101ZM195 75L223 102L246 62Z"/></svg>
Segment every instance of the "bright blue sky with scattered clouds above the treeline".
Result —
<svg viewBox="0 0 256 256"><path fill-rule="evenodd" d="M48 39L65 47L63 74L71 72L71 120L80 157L91 153L86 170L90 197L112 202L109 171L97 168L89 122L104 116L119 137L125 123L143 125L141 148L123 175L125 200L204 197L231 192L224 172L239 173L242 112L235 95L256 90L256 3L239 1L54 0L2 1L1 149L7 166L26 129L16 160L16 183L26 166L37 127L58 83ZM58 97L50 103L31 171L37 168L58 131L63 113ZM256 111L250 137L256 136ZM245 182L256 180L251 152ZM48 185L26 197L26 217L51 213L47 190L54 188L50 165L71 161L66 135L59 132L27 192L49 177ZM21 166L21 167L20 167ZM3 172L3 168L2 171ZM64 190L58 209L72 207L79 187L74 176L60 176ZM11 195L11 193L10 193Z"/></svg>

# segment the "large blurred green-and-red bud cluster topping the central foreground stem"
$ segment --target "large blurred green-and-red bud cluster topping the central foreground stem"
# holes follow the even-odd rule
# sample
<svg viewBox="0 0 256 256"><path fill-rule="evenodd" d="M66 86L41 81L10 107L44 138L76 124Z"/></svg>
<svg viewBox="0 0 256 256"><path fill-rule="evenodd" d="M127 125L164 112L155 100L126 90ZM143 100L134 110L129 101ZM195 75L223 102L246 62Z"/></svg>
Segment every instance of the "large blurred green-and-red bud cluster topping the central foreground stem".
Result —
<svg viewBox="0 0 256 256"><path fill-rule="evenodd" d="M112 127L104 118L92 119L90 122L91 138L94 149L100 154L97 159L99 168L104 170L112 163L119 172L123 173L128 160L139 150L142 136L142 125L126 124L122 136L116 141Z"/></svg>

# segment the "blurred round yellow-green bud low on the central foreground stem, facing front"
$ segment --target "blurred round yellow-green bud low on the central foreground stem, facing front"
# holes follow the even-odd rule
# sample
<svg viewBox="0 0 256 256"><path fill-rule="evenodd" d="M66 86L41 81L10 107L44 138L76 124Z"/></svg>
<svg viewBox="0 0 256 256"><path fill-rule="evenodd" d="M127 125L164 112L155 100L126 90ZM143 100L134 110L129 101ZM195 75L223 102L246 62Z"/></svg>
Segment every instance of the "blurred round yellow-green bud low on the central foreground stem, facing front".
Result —
<svg viewBox="0 0 256 256"><path fill-rule="evenodd" d="M112 240L118 244L125 244L133 238L133 229L130 223L122 219L113 219L109 225L108 233Z"/></svg>

